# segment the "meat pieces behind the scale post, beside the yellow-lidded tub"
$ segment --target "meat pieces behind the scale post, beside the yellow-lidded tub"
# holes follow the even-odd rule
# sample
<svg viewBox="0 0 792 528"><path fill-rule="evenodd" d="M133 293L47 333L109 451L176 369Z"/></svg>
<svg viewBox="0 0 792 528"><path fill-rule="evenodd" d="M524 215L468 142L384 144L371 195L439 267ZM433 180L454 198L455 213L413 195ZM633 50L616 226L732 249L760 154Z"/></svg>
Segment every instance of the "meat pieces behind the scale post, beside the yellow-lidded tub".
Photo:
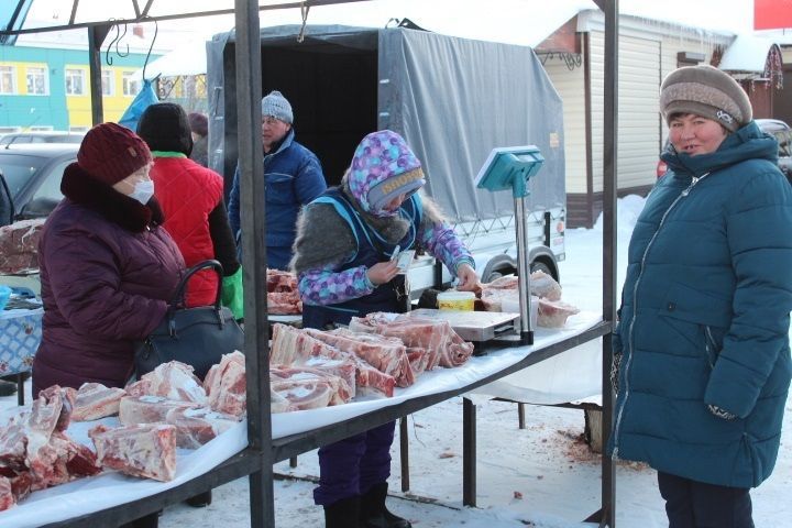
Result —
<svg viewBox="0 0 792 528"><path fill-rule="evenodd" d="M531 295L539 297L537 324L548 328L560 328L566 318L580 310L561 300L561 286L542 271L531 273ZM518 278L514 275L496 278L492 283L482 284L481 300L487 311L503 311L502 305L509 302L519 306Z"/></svg>

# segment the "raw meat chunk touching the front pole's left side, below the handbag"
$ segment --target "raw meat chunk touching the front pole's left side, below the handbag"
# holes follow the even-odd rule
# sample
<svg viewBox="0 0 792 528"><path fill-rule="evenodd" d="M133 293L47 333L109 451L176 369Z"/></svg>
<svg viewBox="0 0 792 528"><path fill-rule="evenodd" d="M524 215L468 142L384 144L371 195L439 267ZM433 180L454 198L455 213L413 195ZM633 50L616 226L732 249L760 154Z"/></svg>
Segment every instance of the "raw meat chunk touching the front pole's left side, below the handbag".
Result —
<svg viewBox="0 0 792 528"><path fill-rule="evenodd" d="M223 354L204 380L209 407L238 418L244 416L248 408L246 387L245 359L240 351Z"/></svg>

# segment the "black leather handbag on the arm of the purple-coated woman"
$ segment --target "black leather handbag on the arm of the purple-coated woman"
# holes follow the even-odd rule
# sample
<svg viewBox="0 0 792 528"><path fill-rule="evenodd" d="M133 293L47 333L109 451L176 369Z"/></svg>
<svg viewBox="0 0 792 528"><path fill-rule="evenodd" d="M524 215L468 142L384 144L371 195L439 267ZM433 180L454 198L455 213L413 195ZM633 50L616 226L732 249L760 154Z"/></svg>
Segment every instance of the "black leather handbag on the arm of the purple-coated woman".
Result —
<svg viewBox="0 0 792 528"><path fill-rule="evenodd" d="M201 270L212 268L218 274L215 304L195 308L184 306L189 278ZM209 369L220 363L223 354L242 351L244 332L231 310L220 306L222 297L222 265L218 261L204 261L190 267L176 288L162 322L134 351L138 380L163 363L176 360L193 365L195 374L204 380Z"/></svg>

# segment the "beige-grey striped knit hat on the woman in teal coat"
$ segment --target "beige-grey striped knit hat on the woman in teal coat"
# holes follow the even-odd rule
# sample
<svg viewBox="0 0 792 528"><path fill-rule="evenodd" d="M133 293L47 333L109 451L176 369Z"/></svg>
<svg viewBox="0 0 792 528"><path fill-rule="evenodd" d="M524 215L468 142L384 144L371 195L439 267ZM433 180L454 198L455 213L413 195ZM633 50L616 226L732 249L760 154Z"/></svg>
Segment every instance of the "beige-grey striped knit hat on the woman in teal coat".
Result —
<svg viewBox="0 0 792 528"><path fill-rule="evenodd" d="M751 119L748 95L728 74L708 65L671 72L660 87L660 111L669 121L678 113L695 113L735 132Z"/></svg>

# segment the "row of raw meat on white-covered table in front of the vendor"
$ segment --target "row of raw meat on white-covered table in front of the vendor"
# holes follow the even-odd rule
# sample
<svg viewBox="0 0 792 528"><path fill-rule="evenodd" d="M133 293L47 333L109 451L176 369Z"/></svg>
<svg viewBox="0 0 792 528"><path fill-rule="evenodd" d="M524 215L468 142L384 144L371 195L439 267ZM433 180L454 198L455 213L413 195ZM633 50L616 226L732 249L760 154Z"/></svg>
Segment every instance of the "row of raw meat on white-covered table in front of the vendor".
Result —
<svg viewBox="0 0 792 528"><path fill-rule="evenodd" d="M463 364L473 343L447 321L372 314L349 329L274 324L270 355L273 413L314 409L355 395L391 397L426 371Z"/></svg>

